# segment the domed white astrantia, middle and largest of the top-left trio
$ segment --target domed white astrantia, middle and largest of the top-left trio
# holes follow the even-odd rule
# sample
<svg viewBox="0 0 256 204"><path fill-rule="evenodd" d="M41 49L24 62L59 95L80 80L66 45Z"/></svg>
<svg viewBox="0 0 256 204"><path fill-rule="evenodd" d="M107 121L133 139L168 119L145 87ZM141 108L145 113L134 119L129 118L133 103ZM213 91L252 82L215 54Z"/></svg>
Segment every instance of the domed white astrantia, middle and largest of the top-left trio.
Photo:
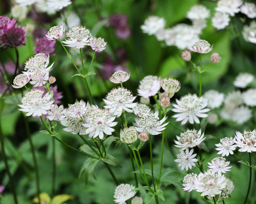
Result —
<svg viewBox="0 0 256 204"><path fill-rule="evenodd" d="M76 49L80 49L89 44L89 40L91 40L92 34L89 29L85 26L75 25L72 26L66 33L66 36L69 37L69 40L62 41L65 46L68 47L76 47Z"/></svg>

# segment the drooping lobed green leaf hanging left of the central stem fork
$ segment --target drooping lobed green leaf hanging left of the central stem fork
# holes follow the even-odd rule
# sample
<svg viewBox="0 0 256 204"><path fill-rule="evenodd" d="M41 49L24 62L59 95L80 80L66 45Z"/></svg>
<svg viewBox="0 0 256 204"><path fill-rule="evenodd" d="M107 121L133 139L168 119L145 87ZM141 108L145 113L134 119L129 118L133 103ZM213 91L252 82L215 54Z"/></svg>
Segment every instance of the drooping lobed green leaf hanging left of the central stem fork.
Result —
<svg viewBox="0 0 256 204"><path fill-rule="evenodd" d="M80 178L82 172L85 170L85 185L88 184L88 179L89 179L89 174L90 173L92 174L93 178L96 180L93 169L99 161L100 161L100 159L89 158L83 163L78 177Z"/></svg>

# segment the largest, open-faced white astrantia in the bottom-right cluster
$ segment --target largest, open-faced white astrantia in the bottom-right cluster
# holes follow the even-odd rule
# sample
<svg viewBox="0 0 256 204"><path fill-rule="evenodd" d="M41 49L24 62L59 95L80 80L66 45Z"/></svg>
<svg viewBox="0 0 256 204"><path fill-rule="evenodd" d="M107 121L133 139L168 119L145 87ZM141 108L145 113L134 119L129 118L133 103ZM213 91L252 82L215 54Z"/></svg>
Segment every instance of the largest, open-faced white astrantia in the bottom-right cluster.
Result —
<svg viewBox="0 0 256 204"><path fill-rule="evenodd" d="M201 196L214 197L221 193L221 189L225 188L226 181L223 174L215 173L210 169L207 172L200 173L195 181L195 190L201 192Z"/></svg>

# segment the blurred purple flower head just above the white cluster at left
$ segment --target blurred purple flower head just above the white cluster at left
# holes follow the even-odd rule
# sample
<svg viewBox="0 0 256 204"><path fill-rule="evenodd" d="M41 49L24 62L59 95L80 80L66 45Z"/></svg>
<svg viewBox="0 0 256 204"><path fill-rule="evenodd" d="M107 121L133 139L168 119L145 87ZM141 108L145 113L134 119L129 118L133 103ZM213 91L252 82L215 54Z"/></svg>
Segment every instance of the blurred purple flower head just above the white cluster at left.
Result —
<svg viewBox="0 0 256 204"><path fill-rule="evenodd" d="M56 41L48 40L46 38L38 39L36 46L34 46L35 53L45 53L46 55L52 55L55 50L54 45Z"/></svg>

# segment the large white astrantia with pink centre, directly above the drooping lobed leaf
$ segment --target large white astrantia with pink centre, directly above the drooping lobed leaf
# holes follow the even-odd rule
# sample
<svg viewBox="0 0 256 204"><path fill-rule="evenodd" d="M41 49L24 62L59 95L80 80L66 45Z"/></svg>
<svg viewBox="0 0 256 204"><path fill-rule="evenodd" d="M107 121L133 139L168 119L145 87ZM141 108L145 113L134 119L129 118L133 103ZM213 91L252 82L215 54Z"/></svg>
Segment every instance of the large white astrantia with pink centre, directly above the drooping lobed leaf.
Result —
<svg viewBox="0 0 256 204"><path fill-rule="evenodd" d="M115 131L111 127L117 124L113 122L115 118L109 110L92 106L89 110L87 109L85 124L82 124L83 127L87 127L85 134L89 134L89 138L99 136L100 139L103 139L104 133L111 135Z"/></svg>

